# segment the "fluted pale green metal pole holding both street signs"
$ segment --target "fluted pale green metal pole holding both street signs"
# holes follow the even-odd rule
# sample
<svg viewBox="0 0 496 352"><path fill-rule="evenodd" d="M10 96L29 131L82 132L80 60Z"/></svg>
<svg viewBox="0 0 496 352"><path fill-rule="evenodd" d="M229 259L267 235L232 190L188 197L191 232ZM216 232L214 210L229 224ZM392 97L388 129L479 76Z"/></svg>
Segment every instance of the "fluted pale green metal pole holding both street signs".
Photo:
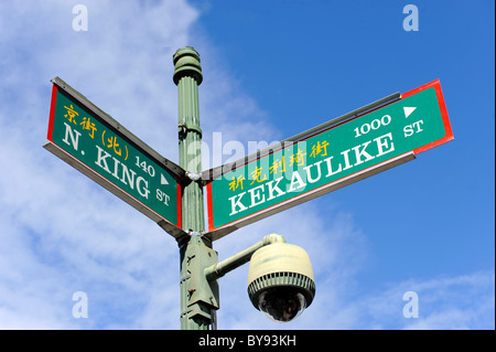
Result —
<svg viewBox="0 0 496 352"><path fill-rule="evenodd" d="M179 243L181 254L181 329L207 330L218 309L218 284L207 281L204 268L217 263L205 231L198 85L203 81L198 53L190 46L173 56L179 102L180 166L188 180L182 186L182 227L190 237Z"/></svg>

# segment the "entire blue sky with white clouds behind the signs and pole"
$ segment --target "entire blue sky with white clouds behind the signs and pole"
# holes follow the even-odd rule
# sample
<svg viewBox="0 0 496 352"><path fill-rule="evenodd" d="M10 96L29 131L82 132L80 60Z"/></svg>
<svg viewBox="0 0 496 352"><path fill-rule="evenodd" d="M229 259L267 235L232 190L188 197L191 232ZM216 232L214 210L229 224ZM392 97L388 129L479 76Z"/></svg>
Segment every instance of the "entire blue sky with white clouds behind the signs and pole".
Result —
<svg viewBox="0 0 496 352"><path fill-rule="evenodd" d="M224 259L279 233L316 279L308 311L276 324L248 300L248 266L226 275L219 329L494 329L494 42L487 0L1 1L0 328L180 328L175 241L42 146L60 76L177 161L172 55L192 45L204 169L231 157L213 154L218 136L248 150L436 78L455 137L217 241Z"/></svg>

